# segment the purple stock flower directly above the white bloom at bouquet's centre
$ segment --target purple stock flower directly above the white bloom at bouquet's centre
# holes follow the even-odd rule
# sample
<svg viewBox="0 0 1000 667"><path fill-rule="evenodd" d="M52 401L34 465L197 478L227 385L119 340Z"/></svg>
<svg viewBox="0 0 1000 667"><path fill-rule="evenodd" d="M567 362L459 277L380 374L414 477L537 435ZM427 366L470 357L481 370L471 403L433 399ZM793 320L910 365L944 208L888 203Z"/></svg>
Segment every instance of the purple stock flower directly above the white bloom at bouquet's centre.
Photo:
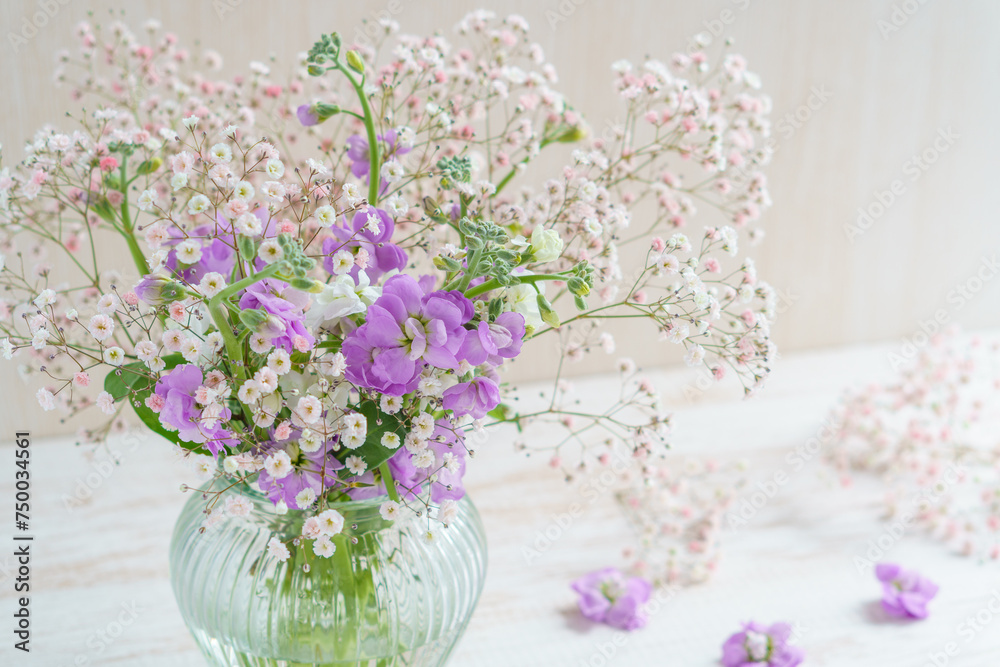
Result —
<svg viewBox="0 0 1000 667"><path fill-rule="evenodd" d="M378 233L368 229L368 216L373 215L378 218ZM333 257L341 250L349 250L354 253L358 248L364 248L368 253L368 265L364 267L365 273L372 283L377 283L383 274L393 270L401 270L406 266L408 257L402 248L392 243L392 233L395 225L392 217L380 208L367 208L358 211L351 218L350 224L346 219L343 226L334 226L330 229L333 236L323 241L323 266L327 271L333 273ZM358 272L360 266L355 265L350 275L354 282L358 282Z"/></svg>

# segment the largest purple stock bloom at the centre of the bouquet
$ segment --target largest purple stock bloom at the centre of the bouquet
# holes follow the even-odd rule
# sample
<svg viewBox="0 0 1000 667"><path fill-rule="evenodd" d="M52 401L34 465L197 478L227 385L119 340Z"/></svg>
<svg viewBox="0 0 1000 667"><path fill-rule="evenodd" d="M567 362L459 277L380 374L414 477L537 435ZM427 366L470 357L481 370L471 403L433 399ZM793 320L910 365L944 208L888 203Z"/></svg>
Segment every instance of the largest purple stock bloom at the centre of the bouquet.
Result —
<svg viewBox="0 0 1000 667"><path fill-rule="evenodd" d="M412 277L390 278L368 308L365 323L344 339L347 379L390 396L416 389L426 365L457 369L472 319L472 302L460 292L424 294Z"/></svg>

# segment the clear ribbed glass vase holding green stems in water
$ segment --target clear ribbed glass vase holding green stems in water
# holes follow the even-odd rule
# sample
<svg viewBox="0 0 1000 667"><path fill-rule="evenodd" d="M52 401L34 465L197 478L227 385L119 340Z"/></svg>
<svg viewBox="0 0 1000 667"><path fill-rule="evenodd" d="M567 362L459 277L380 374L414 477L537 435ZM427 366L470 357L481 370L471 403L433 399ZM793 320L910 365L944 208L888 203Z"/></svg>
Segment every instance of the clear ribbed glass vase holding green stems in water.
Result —
<svg viewBox="0 0 1000 667"><path fill-rule="evenodd" d="M193 493L170 547L174 595L209 664L445 664L486 575L486 537L468 497L431 540L425 519L384 521L384 498L332 505L345 519L333 556L316 556L303 540L280 562L267 543L299 535L303 513L279 515L247 489L225 491L216 507L235 493L253 501L249 517L201 533L206 500Z"/></svg>

